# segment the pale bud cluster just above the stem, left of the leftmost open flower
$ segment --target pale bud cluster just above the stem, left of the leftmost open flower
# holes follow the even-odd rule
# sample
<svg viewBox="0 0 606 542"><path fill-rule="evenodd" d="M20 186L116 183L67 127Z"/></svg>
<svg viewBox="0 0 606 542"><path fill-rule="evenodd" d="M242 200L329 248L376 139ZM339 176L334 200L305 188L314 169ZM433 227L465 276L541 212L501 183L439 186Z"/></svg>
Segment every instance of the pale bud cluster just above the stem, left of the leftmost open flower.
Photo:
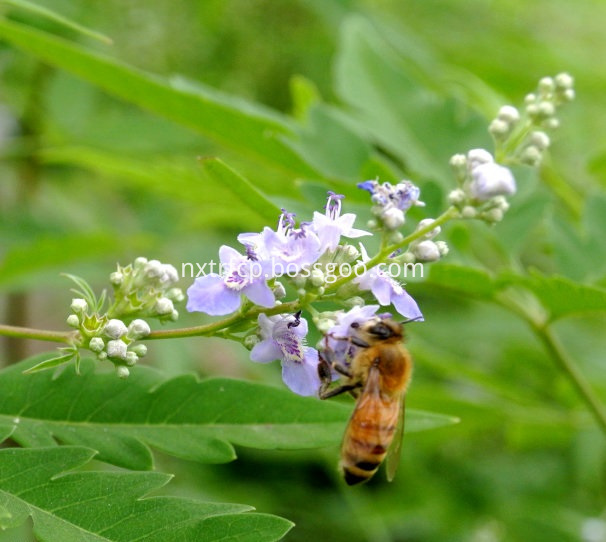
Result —
<svg viewBox="0 0 606 542"><path fill-rule="evenodd" d="M110 275L115 298L111 313L177 320L179 312L174 305L185 299L181 289L174 287L178 280L177 270L158 260L137 258L132 265L118 265Z"/></svg>

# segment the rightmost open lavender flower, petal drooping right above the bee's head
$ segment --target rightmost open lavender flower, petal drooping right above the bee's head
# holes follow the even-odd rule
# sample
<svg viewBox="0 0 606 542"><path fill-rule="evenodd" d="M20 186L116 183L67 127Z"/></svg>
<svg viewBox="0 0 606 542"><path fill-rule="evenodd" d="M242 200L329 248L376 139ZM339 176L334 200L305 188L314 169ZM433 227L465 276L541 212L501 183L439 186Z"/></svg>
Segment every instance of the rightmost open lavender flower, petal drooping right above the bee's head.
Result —
<svg viewBox="0 0 606 542"><path fill-rule="evenodd" d="M362 245L362 261L368 261L368 254ZM417 302L406 292L402 285L377 265L355 278L360 290L370 290L381 305L393 305L406 318L423 320L423 314Z"/></svg>

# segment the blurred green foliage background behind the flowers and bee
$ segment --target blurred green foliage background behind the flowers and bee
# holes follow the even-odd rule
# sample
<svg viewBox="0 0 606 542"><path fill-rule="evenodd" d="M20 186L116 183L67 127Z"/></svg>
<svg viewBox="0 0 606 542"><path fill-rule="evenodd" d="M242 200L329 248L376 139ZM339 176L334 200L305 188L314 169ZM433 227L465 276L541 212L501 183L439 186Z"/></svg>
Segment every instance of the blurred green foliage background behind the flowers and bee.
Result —
<svg viewBox="0 0 606 542"><path fill-rule="evenodd" d="M237 233L259 230L264 219L209 181L198 157L224 159L302 219L335 189L361 227L369 212L355 183L377 174L410 176L437 213L449 189L448 157L489 146L485 126L498 106L520 104L540 77L561 71L575 77L578 98L562 113L550 159L540 175L516 171L520 191L502 224L446 228L448 262L606 284L602 1L38 3L113 45L30 14L11 11L10 20L146 72L199 81L237 107L242 99L261 104L296 126L293 147L313 167L295 175L258 163L240 143L142 111L130 103L134 94L121 99L3 42L4 323L62 329L71 297L62 271L101 289L116 262L145 255L179 268L216 259ZM171 79L175 88L184 80ZM380 473L365 487L344 488L336 449L241 449L220 466L159 456L158 469L176 475L170 491L291 519L291 541L606 541L604 435L541 344L495 305L423 281L409 291L426 323L409 333L416 367L407 405L462 421L406 437L392 484ZM183 314L179 325L200 322ZM602 398L605 323L597 312L556 325ZM7 363L46 349L1 344ZM167 374L280 385L277 364L256 366L226 341L158 341L150 351L149 363Z"/></svg>

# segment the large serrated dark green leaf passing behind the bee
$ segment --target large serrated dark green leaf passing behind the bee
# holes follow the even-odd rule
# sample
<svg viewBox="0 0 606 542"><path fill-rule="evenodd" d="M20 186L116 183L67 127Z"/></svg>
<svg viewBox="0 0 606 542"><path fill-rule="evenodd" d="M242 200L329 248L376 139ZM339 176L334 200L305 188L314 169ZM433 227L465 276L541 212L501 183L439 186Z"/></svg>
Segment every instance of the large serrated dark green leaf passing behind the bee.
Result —
<svg viewBox="0 0 606 542"><path fill-rule="evenodd" d="M261 449L301 449L340 442L353 405L299 397L285 389L193 375L164 379L137 367L126 380L94 372L23 375L36 358L0 372L0 424L16 424L22 446L60 441L99 451L99 458L149 469L148 446L207 463L235 458L233 444ZM408 412L408 429L450 424L445 416Z"/></svg>

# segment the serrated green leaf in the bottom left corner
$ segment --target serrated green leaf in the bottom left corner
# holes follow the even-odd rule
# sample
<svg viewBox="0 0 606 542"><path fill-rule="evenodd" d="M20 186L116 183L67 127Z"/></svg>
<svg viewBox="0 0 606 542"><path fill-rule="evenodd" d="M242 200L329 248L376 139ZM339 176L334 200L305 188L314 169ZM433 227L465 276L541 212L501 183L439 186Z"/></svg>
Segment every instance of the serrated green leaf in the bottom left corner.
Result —
<svg viewBox="0 0 606 542"><path fill-rule="evenodd" d="M169 481L166 474L66 472L93 456L93 450L71 446L0 450L3 525L17 526L31 516L39 540L62 542L269 541L292 527L239 504L144 498Z"/></svg>

